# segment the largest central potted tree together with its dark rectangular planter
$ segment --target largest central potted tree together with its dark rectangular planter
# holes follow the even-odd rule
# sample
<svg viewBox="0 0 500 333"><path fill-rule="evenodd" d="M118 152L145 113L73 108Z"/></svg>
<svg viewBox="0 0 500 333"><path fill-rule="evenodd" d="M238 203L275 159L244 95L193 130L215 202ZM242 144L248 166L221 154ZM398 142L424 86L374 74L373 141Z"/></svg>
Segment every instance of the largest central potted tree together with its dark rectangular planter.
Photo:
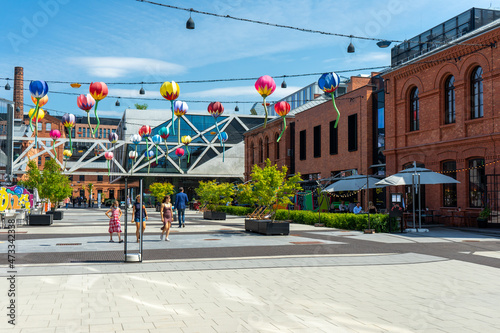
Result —
<svg viewBox="0 0 500 333"><path fill-rule="evenodd" d="M250 176L253 197L256 204L260 207L267 207L269 213L264 219L245 219L246 231L264 235L288 235L290 233L289 222L275 221L278 206L291 204L290 197L301 190L298 183L301 180L300 174L287 178L287 173L286 166L279 170L276 165L271 165L269 159L266 160L264 168L260 168L258 165L253 166ZM246 190L248 191L248 189Z"/></svg>

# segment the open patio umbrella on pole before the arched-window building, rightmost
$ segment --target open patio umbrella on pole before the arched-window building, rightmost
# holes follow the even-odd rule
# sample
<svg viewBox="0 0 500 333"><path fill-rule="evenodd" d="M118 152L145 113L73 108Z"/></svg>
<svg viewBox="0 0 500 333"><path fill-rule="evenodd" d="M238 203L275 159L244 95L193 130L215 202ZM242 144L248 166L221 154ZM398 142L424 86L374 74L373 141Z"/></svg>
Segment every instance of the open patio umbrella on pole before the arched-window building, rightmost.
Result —
<svg viewBox="0 0 500 333"><path fill-rule="evenodd" d="M398 185L412 185L412 189L415 187L420 188L420 185L432 185L432 184L452 184L460 183L458 180L451 178L449 176L443 175L441 173L434 172L426 168L418 168L414 166L413 168L402 170L392 176L382 179L376 185L381 186L398 186ZM413 191L414 192L414 191ZM418 227L422 227L422 211L420 207L420 191L418 191ZM415 195L413 195L415 198ZM413 203L413 227L415 227L415 202Z"/></svg>

